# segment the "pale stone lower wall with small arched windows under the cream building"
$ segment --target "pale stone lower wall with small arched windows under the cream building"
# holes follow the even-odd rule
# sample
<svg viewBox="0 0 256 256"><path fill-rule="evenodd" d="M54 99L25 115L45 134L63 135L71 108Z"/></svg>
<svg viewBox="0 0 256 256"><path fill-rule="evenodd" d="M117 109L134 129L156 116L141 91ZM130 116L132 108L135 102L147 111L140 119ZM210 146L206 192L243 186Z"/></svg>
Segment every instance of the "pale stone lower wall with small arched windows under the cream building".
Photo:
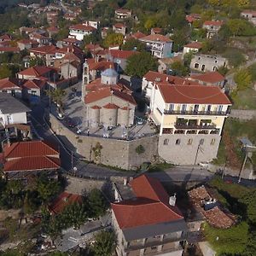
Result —
<svg viewBox="0 0 256 256"><path fill-rule="evenodd" d="M168 140L166 145L164 145L165 139ZM180 144L176 144L177 139L180 140ZM192 139L191 144L188 144L189 139ZM201 139L204 139L204 143L198 150L196 164L216 158L221 139L217 134L163 134L159 138L159 155L167 162L176 165L194 165ZM215 141L212 144L213 139Z"/></svg>

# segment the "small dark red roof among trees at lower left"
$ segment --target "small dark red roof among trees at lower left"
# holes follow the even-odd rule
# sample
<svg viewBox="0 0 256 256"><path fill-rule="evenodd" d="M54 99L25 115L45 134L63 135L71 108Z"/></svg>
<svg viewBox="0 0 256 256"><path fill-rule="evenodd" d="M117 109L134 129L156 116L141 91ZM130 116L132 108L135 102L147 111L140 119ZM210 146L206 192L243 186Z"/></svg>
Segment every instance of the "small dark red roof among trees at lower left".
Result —
<svg viewBox="0 0 256 256"><path fill-rule="evenodd" d="M58 214L61 213L65 207L73 204L79 203L81 204L83 201L82 195L71 194L67 192L62 192L55 201L49 206L49 211Z"/></svg>

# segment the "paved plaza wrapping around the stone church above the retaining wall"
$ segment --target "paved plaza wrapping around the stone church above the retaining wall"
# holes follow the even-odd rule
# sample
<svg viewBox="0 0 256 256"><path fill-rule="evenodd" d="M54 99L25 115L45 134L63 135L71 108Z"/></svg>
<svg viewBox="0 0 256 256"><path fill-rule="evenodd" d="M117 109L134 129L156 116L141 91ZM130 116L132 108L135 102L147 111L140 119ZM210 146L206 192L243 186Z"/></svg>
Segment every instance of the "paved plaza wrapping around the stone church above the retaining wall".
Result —
<svg viewBox="0 0 256 256"><path fill-rule="evenodd" d="M74 93L72 88L76 88ZM103 125L99 127L91 127L90 120L86 119L86 107L81 100L81 85L74 85L67 88L67 95L64 98L64 119L61 120L63 125L69 129L77 132L80 135L89 135L94 137L109 137L109 138L123 138L129 140L147 137L156 133L156 127L146 119L143 122L135 122L131 127L116 126L108 130L108 127ZM52 107L53 113L56 115L55 107ZM136 116L142 116L142 113L136 113Z"/></svg>

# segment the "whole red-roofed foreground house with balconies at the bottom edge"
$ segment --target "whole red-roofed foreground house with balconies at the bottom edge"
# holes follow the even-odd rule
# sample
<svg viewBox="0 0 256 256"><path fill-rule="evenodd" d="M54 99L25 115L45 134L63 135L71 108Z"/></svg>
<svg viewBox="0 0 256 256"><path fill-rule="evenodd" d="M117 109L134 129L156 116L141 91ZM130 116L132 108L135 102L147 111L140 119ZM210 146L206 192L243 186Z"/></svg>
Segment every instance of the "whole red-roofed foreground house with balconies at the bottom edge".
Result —
<svg viewBox="0 0 256 256"><path fill-rule="evenodd" d="M116 202L111 204L117 255L181 256L187 226L176 196L144 174L126 186L131 187L126 195L115 186Z"/></svg>

